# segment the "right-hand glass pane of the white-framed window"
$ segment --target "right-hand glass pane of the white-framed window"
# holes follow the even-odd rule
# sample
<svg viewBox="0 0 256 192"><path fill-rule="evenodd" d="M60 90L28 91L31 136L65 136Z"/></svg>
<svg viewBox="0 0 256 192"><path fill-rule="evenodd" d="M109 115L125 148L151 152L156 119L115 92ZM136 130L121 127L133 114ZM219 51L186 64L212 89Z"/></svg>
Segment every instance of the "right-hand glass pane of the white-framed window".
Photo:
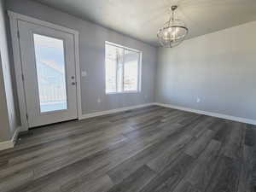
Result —
<svg viewBox="0 0 256 192"><path fill-rule="evenodd" d="M124 90L138 90L139 53L125 50Z"/></svg>

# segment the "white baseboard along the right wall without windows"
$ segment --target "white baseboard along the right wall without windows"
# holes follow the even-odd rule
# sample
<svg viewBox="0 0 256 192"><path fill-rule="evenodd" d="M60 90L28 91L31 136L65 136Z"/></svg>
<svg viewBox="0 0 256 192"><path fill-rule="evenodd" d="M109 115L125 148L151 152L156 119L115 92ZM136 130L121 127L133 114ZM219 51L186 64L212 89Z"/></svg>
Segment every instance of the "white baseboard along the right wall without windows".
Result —
<svg viewBox="0 0 256 192"><path fill-rule="evenodd" d="M217 118L220 118L220 119L228 119L228 120L238 121L238 122L241 122L241 123L256 125L256 120L253 120L253 119L245 119L245 118L230 116L230 115L221 114L221 113L212 113L212 112L202 111L202 110L193 109L193 108L183 108L183 107L164 104L164 103L160 103L160 102L156 102L154 104L158 105L158 106L165 107L165 108L175 108L175 109L182 110L182 111L205 114L205 115L212 116L212 117L217 117Z"/></svg>

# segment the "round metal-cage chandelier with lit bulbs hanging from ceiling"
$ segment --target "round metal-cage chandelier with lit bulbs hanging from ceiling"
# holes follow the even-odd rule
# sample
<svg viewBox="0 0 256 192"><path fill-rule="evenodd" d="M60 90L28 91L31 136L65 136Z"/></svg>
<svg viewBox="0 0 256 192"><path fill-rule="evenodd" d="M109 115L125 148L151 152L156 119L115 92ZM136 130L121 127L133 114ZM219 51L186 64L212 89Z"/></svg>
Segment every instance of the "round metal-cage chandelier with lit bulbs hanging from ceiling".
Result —
<svg viewBox="0 0 256 192"><path fill-rule="evenodd" d="M172 48L181 44L189 32L183 20L176 20L174 18L174 11L176 9L177 5L172 6L170 20L157 33L160 44L166 48Z"/></svg>

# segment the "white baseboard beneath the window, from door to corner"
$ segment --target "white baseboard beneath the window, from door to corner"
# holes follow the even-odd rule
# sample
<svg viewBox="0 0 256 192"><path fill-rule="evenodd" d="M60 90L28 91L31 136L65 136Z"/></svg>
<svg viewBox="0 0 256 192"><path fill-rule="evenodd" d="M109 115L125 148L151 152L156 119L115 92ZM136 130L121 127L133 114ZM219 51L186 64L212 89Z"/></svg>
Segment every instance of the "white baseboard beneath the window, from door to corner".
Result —
<svg viewBox="0 0 256 192"><path fill-rule="evenodd" d="M154 102L150 102L150 103L146 103L146 104L142 104L142 105L131 106L131 107L126 107L126 108L115 108L112 110L102 111L102 112L88 113L88 114L83 114L80 119L89 119L89 118L96 117L96 116L102 116L102 115L111 114L111 113L119 113L119 112L128 111L128 110L136 109L136 108L145 108L145 107L152 106L152 105L154 105Z"/></svg>

